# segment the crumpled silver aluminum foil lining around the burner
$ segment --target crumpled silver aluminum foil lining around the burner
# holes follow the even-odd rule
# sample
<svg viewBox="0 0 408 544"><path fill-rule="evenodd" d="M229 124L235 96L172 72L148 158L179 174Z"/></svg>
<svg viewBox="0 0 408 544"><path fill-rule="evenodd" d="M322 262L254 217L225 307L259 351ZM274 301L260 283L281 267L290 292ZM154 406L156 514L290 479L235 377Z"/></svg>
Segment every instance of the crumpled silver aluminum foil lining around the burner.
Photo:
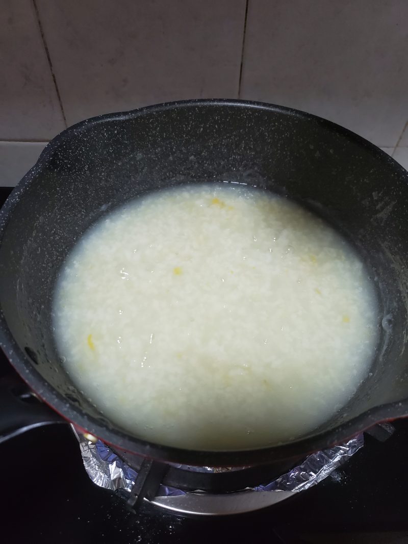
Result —
<svg viewBox="0 0 408 544"><path fill-rule="evenodd" d="M126 465L118 455L114 454L100 440L93 443L87 440L84 435L78 434L75 430L74 433L78 438L85 470L90 479L96 485L105 489L131 491L138 473ZM340 446L333 446L321 452L312 453L301 465L292 468L288 473L283 474L269 484L259 485L250 489L270 492L303 491L327 478L337 467L354 455L363 444L363 435L357 435ZM188 468L190 470L196 469L200 472L217 471L217 469L212 469L211 467ZM160 485L157 496L170 497L184 494L186 494L186 491L181 489Z"/></svg>

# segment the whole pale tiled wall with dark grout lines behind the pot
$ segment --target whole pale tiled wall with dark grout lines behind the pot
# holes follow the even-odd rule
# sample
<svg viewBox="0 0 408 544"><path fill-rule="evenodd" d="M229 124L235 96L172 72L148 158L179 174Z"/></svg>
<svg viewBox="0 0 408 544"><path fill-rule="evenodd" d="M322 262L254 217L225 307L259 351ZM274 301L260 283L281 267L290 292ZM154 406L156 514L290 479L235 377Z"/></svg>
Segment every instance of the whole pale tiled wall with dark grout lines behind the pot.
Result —
<svg viewBox="0 0 408 544"><path fill-rule="evenodd" d="M407 164L406 0L249 0L243 47L245 7L0 0L0 184L65 127L61 106L72 124L193 97L305 109Z"/></svg>

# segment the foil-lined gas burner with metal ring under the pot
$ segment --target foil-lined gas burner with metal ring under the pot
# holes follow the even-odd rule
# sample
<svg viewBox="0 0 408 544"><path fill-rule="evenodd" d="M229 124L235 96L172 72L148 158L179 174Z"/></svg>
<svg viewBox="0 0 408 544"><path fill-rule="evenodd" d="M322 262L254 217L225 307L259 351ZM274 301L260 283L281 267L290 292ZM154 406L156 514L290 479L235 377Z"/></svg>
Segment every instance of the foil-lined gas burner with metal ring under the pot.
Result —
<svg viewBox="0 0 408 544"><path fill-rule="evenodd" d="M144 459L91 442L73 430L94 483L118 492L133 511L148 500L178 515L240 514L276 504L316 485L363 446L363 435L358 435L309 455L294 468L292 460L285 465L215 469Z"/></svg>

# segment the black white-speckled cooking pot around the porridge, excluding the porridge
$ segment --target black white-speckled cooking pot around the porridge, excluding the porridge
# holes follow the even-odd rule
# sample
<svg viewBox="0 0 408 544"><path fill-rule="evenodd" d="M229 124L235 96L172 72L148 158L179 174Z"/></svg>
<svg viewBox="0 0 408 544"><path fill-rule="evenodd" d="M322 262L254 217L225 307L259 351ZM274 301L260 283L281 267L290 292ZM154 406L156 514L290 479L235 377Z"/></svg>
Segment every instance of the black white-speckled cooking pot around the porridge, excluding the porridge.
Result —
<svg viewBox="0 0 408 544"><path fill-rule="evenodd" d="M347 406L300 440L239 452L147 443L109 422L77 390L58 357L53 288L76 240L129 199L202 181L239 181L300 201L342 231L372 271L381 341L370 374ZM2 348L29 387L63 418L119 448L164 461L253 466L293 459L406 416L407 182L399 164L356 134L269 104L175 102L78 123L47 145L0 213ZM38 404L19 405L18 411L3 407L3 436L59 419Z"/></svg>

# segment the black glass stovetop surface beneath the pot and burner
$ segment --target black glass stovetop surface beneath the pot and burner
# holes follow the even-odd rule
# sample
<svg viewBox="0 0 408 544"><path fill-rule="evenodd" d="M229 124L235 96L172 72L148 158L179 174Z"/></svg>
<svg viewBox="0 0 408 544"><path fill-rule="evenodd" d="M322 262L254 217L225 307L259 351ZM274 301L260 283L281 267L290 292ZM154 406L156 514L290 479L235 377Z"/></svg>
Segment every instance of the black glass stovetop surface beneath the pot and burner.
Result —
<svg viewBox="0 0 408 544"><path fill-rule="evenodd" d="M0 205L10 189L0 188ZM11 369L0 353L0 377ZM0 535L15 544L259 542L408 543L408 419L364 447L319 485L250 514L182 518L146 504L137 514L91 482L68 425L0 446Z"/></svg>

